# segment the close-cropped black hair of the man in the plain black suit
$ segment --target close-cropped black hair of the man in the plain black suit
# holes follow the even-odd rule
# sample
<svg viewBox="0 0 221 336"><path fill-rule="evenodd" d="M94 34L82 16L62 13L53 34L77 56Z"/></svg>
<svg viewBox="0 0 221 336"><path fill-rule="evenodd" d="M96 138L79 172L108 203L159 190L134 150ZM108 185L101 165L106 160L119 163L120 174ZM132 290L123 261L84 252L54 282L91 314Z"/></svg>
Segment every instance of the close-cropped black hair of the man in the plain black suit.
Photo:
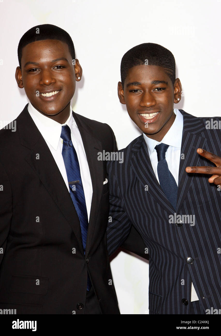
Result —
<svg viewBox="0 0 221 336"><path fill-rule="evenodd" d="M72 59L75 59L75 47L71 36L60 27L54 25L38 25L29 29L18 43L18 62L21 68L22 49L29 43L41 40L59 40L67 43Z"/></svg>

